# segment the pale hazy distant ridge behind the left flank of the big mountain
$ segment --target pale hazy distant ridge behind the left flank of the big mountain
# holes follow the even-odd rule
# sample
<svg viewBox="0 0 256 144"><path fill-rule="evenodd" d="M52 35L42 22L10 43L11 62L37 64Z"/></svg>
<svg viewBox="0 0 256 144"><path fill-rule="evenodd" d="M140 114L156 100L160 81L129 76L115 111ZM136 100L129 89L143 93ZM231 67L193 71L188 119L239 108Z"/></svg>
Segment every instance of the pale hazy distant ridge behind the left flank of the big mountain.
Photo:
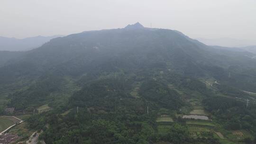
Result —
<svg viewBox="0 0 256 144"><path fill-rule="evenodd" d="M28 51L60 36L35 36L23 39L0 36L0 51Z"/></svg>

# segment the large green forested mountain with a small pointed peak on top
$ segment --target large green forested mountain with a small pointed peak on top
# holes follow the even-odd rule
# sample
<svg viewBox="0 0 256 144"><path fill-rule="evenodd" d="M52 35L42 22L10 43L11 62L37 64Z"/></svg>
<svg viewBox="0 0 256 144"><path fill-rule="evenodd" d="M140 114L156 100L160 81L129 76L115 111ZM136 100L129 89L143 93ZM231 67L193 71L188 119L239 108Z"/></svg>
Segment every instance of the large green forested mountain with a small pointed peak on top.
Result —
<svg viewBox="0 0 256 144"><path fill-rule="evenodd" d="M208 133L207 139L189 136L180 117L184 108L192 110L188 99L204 99L213 117L228 119L225 102L214 105L211 99L251 99L242 90L256 92L256 54L207 46L179 31L139 23L3 53L10 56L0 59L0 95L8 95L2 107L33 114L29 128L42 129L46 144L219 144ZM216 81L207 87L209 78ZM234 101L227 107L244 108ZM44 104L52 110L35 115ZM172 115L178 123L160 133L159 115ZM254 109L247 115L256 118ZM240 128L256 127L251 119L243 122Z"/></svg>

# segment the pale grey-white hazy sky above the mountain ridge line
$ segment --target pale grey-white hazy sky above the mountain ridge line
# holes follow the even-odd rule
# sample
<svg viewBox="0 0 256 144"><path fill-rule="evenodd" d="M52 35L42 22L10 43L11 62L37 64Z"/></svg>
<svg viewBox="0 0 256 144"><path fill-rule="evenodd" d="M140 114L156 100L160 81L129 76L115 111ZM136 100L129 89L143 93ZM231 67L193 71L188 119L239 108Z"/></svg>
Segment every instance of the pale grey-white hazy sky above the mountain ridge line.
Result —
<svg viewBox="0 0 256 144"><path fill-rule="evenodd" d="M256 40L256 0L0 0L0 36L68 35L137 21L192 38Z"/></svg>

